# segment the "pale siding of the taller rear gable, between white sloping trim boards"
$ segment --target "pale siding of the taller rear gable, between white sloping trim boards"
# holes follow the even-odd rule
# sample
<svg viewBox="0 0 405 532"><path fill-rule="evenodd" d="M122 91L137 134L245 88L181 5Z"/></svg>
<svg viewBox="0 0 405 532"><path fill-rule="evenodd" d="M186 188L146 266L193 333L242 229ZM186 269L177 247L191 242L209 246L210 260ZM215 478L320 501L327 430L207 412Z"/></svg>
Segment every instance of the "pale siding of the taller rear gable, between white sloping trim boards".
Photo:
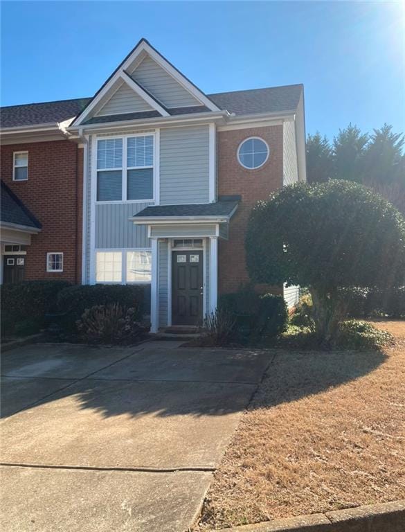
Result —
<svg viewBox="0 0 405 532"><path fill-rule="evenodd" d="M131 76L165 107L201 105L199 100L149 56L136 67Z"/></svg>

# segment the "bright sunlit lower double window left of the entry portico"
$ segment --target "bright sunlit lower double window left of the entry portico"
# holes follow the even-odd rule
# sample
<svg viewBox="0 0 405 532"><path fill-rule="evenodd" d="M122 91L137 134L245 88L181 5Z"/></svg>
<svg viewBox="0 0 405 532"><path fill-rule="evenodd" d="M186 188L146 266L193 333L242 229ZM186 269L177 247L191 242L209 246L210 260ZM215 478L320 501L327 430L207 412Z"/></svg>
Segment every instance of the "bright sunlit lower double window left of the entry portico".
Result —
<svg viewBox="0 0 405 532"><path fill-rule="evenodd" d="M96 252L96 283L150 283L151 280L149 250Z"/></svg>

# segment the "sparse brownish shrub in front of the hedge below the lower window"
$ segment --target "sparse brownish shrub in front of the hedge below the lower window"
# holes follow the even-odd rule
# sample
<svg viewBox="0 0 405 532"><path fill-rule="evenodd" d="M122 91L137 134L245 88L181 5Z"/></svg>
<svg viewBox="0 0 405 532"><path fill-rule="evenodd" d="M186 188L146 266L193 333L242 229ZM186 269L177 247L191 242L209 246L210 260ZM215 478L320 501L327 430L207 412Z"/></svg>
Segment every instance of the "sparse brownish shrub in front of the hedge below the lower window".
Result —
<svg viewBox="0 0 405 532"><path fill-rule="evenodd" d="M134 308L119 303L96 305L84 311L77 326L80 337L89 344L116 344L133 340L143 331Z"/></svg>

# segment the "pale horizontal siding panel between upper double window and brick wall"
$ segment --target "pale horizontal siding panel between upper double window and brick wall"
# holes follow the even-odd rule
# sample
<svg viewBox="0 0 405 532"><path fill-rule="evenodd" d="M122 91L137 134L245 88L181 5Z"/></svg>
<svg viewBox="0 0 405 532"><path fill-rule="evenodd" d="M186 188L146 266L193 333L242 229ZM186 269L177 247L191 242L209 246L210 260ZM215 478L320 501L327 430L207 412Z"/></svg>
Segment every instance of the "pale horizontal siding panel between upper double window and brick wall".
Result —
<svg viewBox="0 0 405 532"><path fill-rule="evenodd" d="M208 125L161 130L160 202L209 202Z"/></svg>

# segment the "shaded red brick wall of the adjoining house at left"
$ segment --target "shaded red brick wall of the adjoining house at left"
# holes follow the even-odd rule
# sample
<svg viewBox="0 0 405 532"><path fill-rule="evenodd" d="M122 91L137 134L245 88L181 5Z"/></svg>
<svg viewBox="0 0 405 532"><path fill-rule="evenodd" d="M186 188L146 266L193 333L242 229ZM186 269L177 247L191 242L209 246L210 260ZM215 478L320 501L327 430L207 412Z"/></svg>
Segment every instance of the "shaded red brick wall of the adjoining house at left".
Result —
<svg viewBox="0 0 405 532"><path fill-rule="evenodd" d="M28 181L12 181L12 152L28 151ZM26 280L60 278L80 282L82 245L82 152L71 141L1 147L1 179L42 223L31 237ZM46 272L46 253L62 251L63 272Z"/></svg>

